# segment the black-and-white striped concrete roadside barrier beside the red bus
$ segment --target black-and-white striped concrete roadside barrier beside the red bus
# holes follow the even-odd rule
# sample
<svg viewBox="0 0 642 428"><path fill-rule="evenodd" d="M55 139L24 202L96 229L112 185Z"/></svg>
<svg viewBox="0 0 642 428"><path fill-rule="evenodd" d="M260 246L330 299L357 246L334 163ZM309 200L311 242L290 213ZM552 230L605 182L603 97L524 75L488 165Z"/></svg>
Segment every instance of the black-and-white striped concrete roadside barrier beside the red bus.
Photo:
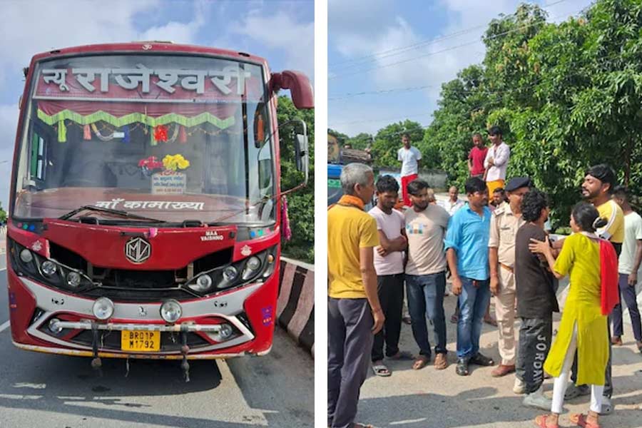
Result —
<svg viewBox="0 0 642 428"><path fill-rule="evenodd" d="M281 258L277 323L312 353L315 347L315 267Z"/></svg>

